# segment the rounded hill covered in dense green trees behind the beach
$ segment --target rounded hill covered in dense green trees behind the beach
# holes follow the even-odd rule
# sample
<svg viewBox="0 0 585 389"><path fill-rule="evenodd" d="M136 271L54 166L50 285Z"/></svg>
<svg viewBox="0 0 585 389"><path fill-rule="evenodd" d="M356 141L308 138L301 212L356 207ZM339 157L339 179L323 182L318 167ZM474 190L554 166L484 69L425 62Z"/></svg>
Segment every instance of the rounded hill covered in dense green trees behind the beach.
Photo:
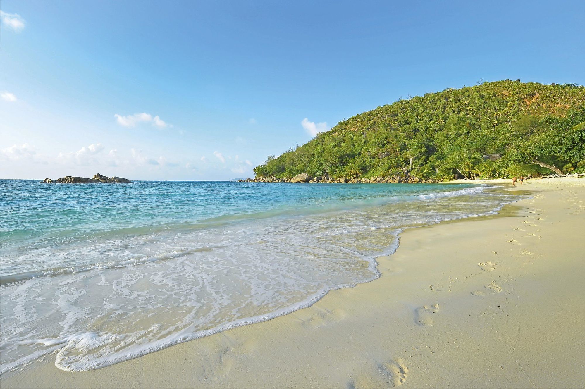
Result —
<svg viewBox="0 0 585 389"><path fill-rule="evenodd" d="M585 170L585 87L496 81L401 99L343 120L256 177L484 178ZM483 154L501 154L492 162Z"/></svg>

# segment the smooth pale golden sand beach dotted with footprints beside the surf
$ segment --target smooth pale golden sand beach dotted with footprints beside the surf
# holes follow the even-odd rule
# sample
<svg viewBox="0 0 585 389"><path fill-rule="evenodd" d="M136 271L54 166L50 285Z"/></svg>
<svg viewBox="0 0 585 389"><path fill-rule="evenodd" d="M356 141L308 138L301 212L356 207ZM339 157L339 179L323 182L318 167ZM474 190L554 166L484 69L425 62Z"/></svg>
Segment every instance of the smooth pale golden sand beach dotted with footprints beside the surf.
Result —
<svg viewBox="0 0 585 389"><path fill-rule="evenodd" d="M501 183L501 180L494 181ZM0 376L0 383L3 387L395 387L403 383L404 387L429 387L433 383L449 387L578 385L585 379L578 370L585 364L585 345L579 336L584 318L579 303L585 302L579 279L584 271L583 265L577 262L580 260L577 242L565 246L559 246L559 242L566 240L576 228L583 228L585 214L577 211L585 209L585 201L578 202L579 195L583 198L585 192L585 180L562 178L541 183L542 180L525 181L527 188L508 185L518 191L536 189L534 198L505 205L496 215L404 230L400 233L400 245L395 253L376 259L381 273L379 278L353 288L330 291L311 307L98 370L67 373L58 370L51 362L35 362L25 371ZM551 190L546 188L551 186L549 183L566 188ZM560 215L563 206L559 204L566 203L558 199L569 195L576 203L573 208L577 207L572 217L565 215L567 212ZM549 197L558 199L550 205ZM540 203L546 203L546 206ZM543 209L542 214L546 216L535 215L540 213L536 208ZM549 216L551 212L555 214ZM524 226L522 222L526 220L522 218L542 221ZM559 221L550 221L555 218L564 225L558 226ZM521 230L508 228L510 223ZM546 224L550 225L545 229ZM538 233L529 230L538 230ZM510 239L501 239L502 234ZM486 239L490 247L486 247ZM506 262L508 255L500 259L504 252L510 254L510 263ZM563 252L565 262L569 260L570 264L549 262ZM556 280L556 284L547 283L542 277L548 274L546 270L553 264L560 270L566 270L568 266L573 271L553 274L552 281L564 277ZM523 271L531 265L535 265L532 276ZM501 274L505 272L508 274ZM557 289L552 291L557 294L555 298L543 296L538 293L538 288L534 290L534 277L548 287L562 284L570 290L572 286L577 295L572 301L568 298L558 301ZM521 292L512 287L511 280L522 286L519 288ZM490 287L491 284L494 286ZM512 292L521 300L514 300ZM545 303L535 300L536 295ZM494 300L500 305L493 305ZM524 302L524 305L518 305L517 301ZM546 311L558 310L559 306L570 311L573 333L570 333L571 328L563 326L563 331L557 328L544 332L540 338L544 335L545 340L536 339L539 344L556 344L557 349L559 344L563 345L562 351L571 348L568 340L574 342L572 352L553 357L555 360L564 358L566 363L552 369L553 374L546 367L550 353L556 355L559 350L552 347L538 350L536 345L534 351L535 345L522 338L521 332L543 332L549 325L542 318L532 316L535 313L547 316ZM513 323L507 322L505 316L500 317L502 307L509 312L506 315L514 316ZM559 312L561 317L555 323L566 322L567 313ZM528 322L522 323L528 329L521 331L522 319L518 317ZM478 321L478 318L484 320ZM475 336L470 336L472 334ZM515 339L511 356L510 345L505 343L508 340L504 342L503 338ZM532 354L542 351L549 353L546 358L530 364L525 361L534 359ZM505 366L501 364L503 360ZM286 366L284 371L282 366ZM490 369L489 373L486 373L486 367ZM541 374L534 374L534 369L541 369L538 370ZM531 374L526 374L526 371ZM550 376L561 373L564 376L559 379L550 379ZM535 385L532 378L539 375L542 377L535 381L538 383Z"/></svg>

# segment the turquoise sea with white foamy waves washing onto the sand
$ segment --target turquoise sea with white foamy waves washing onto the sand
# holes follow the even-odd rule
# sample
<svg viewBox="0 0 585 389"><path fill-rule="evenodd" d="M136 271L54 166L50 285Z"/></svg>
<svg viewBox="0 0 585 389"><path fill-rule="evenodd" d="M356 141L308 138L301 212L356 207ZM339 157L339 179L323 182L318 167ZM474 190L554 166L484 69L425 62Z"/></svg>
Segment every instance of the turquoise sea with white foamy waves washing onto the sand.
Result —
<svg viewBox="0 0 585 389"><path fill-rule="evenodd" d="M493 214L486 184L0 180L0 374L84 371L374 280L405 228Z"/></svg>

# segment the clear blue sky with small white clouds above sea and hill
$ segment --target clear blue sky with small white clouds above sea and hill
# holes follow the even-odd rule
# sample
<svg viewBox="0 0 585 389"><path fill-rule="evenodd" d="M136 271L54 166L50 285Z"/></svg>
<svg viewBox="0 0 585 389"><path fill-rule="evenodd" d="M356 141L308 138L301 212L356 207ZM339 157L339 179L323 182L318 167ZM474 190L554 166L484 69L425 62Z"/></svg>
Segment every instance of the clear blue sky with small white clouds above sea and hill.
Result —
<svg viewBox="0 0 585 389"><path fill-rule="evenodd" d="M585 83L585 2L0 0L0 178L253 177L480 79Z"/></svg>

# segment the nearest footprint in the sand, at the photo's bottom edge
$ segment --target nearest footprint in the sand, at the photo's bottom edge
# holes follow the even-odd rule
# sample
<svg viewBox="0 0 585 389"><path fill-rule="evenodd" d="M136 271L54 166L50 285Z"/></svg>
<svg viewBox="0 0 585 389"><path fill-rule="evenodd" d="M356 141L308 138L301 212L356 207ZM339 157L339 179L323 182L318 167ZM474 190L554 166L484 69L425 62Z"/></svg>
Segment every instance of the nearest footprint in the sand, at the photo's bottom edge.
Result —
<svg viewBox="0 0 585 389"><path fill-rule="evenodd" d="M355 389L395 388L406 381L408 368L404 366L404 359L398 358L380 363L371 371L361 371L355 380L350 381L347 387Z"/></svg>

